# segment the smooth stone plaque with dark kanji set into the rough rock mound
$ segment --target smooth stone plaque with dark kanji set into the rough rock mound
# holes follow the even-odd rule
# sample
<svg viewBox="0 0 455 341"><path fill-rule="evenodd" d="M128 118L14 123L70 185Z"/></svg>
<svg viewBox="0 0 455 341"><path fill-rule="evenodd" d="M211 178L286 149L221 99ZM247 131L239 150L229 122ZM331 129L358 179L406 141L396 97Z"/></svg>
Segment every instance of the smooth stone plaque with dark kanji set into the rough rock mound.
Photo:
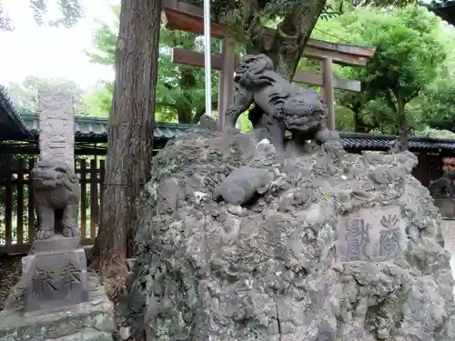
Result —
<svg viewBox="0 0 455 341"><path fill-rule="evenodd" d="M381 261L401 254L406 244L399 206L364 208L339 219L337 259Z"/></svg>

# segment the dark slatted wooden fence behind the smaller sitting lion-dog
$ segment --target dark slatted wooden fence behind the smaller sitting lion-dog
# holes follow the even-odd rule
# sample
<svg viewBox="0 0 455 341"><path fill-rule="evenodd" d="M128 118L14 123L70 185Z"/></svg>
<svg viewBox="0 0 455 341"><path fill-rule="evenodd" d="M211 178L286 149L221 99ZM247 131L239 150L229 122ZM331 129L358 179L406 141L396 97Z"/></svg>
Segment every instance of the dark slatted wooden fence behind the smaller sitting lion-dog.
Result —
<svg viewBox="0 0 455 341"><path fill-rule="evenodd" d="M2 155L0 160L0 254L26 253L34 240L36 217L30 170L36 162L35 155ZM83 245L91 245L100 221L105 160L77 157L76 175L81 185L81 241Z"/></svg>

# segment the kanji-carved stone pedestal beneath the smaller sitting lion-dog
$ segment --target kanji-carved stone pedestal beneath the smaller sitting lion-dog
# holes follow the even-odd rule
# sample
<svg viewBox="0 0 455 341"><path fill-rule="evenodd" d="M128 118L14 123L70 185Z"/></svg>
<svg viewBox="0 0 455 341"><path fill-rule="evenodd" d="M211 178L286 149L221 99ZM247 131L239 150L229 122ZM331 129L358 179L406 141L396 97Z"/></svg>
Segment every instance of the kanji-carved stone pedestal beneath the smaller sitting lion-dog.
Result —
<svg viewBox="0 0 455 341"><path fill-rule="evenodd" d="M77 237L35 241L22 274L25 312L88 301L86 252Z"/></svg>

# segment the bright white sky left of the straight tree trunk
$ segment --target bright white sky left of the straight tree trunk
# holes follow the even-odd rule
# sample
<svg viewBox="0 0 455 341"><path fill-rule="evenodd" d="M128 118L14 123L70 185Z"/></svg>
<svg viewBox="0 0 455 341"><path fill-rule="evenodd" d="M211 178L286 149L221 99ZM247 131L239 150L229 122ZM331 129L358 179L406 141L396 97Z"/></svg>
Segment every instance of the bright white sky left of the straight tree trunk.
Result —
<svg viewBox="0 0 455 341"><path fill-rule="evenodd" d="M54 0L47 0L50 4ZM109 5L115 0L80 0L85 17L73 28L39 27L29 0L2 0L14 21L14 32L0 31L0 84L20 83L27 75L65 77L83 88L98 80L113 80L113 68L90 63L84 51L92 48L96 19L112 22ZM53 14L52 7L49 16ZM57 16L57 15L55 15Z"/></svg>

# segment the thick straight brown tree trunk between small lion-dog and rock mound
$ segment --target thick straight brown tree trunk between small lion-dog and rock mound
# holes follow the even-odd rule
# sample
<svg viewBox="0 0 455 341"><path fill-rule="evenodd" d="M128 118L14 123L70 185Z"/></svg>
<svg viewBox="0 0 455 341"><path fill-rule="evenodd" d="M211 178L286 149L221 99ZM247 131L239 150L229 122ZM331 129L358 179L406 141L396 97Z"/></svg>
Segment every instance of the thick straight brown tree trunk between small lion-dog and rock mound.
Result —
<svg viewBox="0 0 455 341"><path fill-rule="evenodd" d="M151 171L161 8L161 0L122 1L101 226L91 255L106 276L125 268L145 216L141 190Z"/></svg>

